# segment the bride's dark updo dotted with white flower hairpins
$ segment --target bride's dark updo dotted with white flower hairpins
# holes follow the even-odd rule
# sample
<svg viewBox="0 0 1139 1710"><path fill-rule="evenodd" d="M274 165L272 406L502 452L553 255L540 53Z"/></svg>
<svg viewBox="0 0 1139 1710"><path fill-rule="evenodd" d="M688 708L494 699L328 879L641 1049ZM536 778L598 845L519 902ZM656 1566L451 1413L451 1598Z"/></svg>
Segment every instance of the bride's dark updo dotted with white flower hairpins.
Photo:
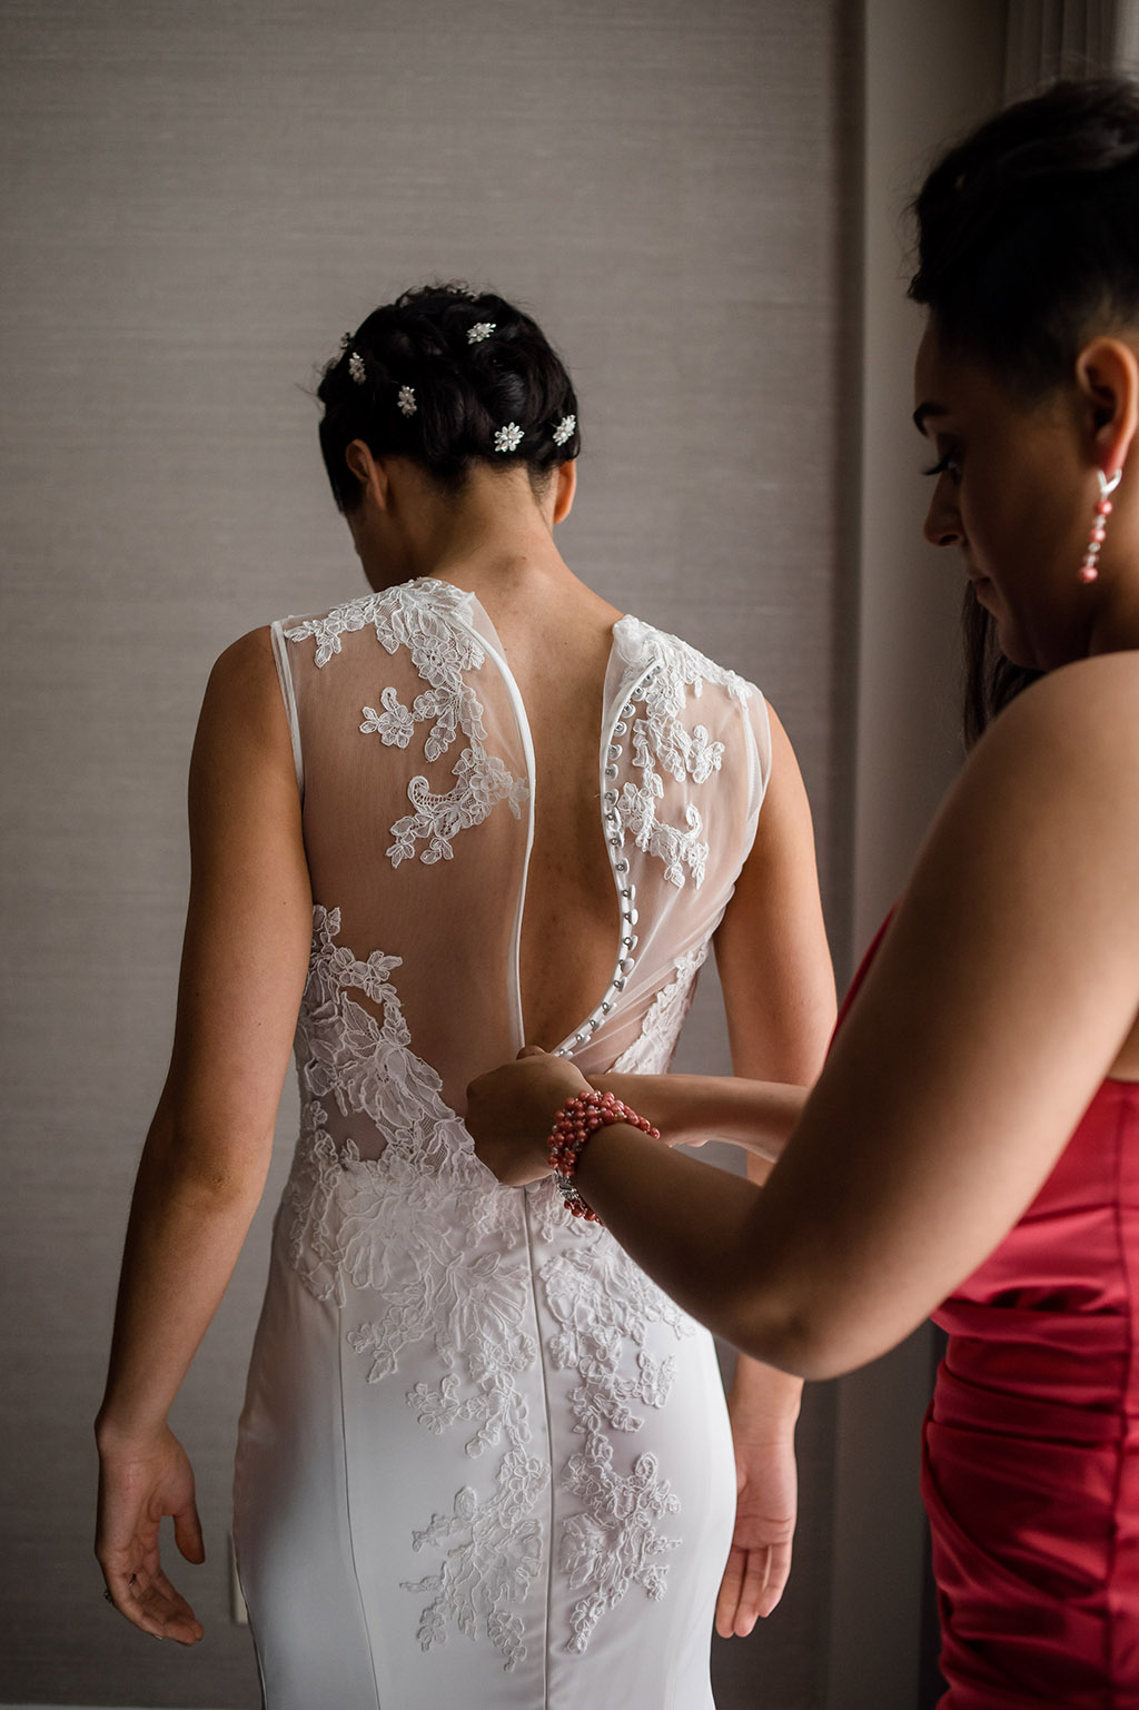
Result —
<svg viewBox="0 0 1139 1710"><path fill-rule="evenodd" d="M320 450L342 511L359 482L352 439L373 457L410 457L457 489L475 462L523 465L537 491L581 448L578 400L542 328L493 292L421 286L375 310L344 339L316 397Z"/></svg>

